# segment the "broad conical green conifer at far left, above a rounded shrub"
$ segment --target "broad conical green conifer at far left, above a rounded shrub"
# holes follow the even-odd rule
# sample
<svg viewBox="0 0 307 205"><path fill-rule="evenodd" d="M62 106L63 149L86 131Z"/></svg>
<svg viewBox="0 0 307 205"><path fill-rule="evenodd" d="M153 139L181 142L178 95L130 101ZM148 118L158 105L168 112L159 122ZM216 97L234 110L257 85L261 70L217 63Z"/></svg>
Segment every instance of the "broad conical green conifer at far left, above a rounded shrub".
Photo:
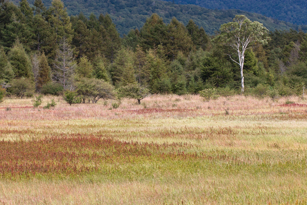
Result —
<svg viewBox="0 0 307 205"><path fill-rule="evenodd" d="M30 58L18 40L14 43L14 47L10 50L8 56L10 63L13 66L14 74L17 78L33 77Z"/></svg>

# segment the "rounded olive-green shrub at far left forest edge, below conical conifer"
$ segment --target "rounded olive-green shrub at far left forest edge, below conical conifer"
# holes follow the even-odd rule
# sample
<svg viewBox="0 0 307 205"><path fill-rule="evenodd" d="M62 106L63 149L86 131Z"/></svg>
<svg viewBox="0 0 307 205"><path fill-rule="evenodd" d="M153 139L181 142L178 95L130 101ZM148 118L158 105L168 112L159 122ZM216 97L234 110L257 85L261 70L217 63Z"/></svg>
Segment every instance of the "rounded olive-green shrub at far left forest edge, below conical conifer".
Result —
<svg viewBox="0 0 307 205"><path fill-rule="evenodd" d="M29 78L15 78L10 81L8 91L17 97L32 97L35 91L35 84Z"/></svg>

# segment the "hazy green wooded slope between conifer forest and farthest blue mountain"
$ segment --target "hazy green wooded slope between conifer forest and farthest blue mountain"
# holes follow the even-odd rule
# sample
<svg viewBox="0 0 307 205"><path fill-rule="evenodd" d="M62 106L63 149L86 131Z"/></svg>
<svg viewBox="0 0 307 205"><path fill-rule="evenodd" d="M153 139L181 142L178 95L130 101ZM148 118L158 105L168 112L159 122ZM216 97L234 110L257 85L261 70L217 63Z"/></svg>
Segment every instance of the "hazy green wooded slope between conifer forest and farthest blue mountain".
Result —
<svg viewBox="0 0 307 205"><path fill-rule="evenodd" d="M17 0L15 0L15 3ZM33 4L34 0L29 0ZM49 6L51 0L43 0ZM296 26L291 23L274 20L260 14L253 14L241 10L210 10L195 5L177 5L172 2L155 0L64 0L69 15L79 14L81 11L88 16L91 12L96 15L110 14L117 25L120 34L126 34L130 29L140 29L151 14L157 13L165 23L173 17L185 25L193 19L197 25L204 27L208 34L214 34L220 25L232 21L237 14L246 15L252 21L263 23L269 30L294 30L307 31L307 26Z"/></svg>

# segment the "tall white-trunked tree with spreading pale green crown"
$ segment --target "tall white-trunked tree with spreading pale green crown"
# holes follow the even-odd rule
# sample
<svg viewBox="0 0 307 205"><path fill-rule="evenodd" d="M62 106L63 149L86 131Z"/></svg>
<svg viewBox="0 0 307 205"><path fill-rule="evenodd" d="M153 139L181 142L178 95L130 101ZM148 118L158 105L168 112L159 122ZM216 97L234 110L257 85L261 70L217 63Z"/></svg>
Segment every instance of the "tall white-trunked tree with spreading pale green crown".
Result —
<svg viewBox="0 0 307 205"><path fill-rule="evenodd" d="M252 47L265 45L270 40L267 37L269 30L259 22L251 22L244 15L236 15L232 22L225 23L220 28L221 34L215 38L227 47L225 53L230 59L240 66L241 70L241 93L244 93L243 65L245 51ZM233 56L238 57L236 60Z"/></svg>

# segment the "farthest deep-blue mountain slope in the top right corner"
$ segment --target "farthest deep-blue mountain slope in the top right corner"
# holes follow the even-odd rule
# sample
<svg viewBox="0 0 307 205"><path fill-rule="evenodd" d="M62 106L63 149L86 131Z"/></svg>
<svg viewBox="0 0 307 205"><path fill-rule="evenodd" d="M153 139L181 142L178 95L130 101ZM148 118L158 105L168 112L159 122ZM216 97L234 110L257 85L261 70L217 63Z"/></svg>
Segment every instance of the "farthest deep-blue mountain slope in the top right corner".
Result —
<svg viewBox="0 0 307 205"><path fill-rule="evenodd" d="M194 4L208 9L240 9L297 25L307 24L307 1L303 0L174 0L174 2Z"/></svg>

